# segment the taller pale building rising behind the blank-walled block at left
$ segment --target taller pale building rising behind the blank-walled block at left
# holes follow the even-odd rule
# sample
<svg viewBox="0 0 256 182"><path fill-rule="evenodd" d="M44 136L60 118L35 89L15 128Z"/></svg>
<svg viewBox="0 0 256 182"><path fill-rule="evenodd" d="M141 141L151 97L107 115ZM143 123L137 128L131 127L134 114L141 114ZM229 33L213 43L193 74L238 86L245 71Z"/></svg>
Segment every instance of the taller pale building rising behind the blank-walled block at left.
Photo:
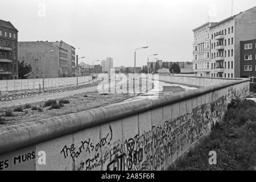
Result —
<svg viewBox="0 0 256 182"><path fill-rule="evenodd" d="M68 59L68 76L76 76L76 49L73 46L70 46L69 44L63 42L62 40L56 41L56 42L51 42L51 44L58 46L60 48L63 48L67 50L67 59ZM60 68L61 69L61 68ZM65 67L64 67L65 70ZM65 73L65 72L64 72Z"/></svg>

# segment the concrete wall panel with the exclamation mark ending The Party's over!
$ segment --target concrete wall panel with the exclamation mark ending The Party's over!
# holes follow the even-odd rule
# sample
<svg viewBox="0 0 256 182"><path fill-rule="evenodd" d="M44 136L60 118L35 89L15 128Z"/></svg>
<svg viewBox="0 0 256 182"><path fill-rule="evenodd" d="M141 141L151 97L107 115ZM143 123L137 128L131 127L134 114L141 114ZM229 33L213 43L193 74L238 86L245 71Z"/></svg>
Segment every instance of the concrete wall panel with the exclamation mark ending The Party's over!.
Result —
<svg viewBox="0 0 256 182"><path fill-rule="evenodd" d="M102 170L122 171L125 156L122 144L122 121L114 121L101 125L101 136L109 136L104 147L101 147Z"/></svg>

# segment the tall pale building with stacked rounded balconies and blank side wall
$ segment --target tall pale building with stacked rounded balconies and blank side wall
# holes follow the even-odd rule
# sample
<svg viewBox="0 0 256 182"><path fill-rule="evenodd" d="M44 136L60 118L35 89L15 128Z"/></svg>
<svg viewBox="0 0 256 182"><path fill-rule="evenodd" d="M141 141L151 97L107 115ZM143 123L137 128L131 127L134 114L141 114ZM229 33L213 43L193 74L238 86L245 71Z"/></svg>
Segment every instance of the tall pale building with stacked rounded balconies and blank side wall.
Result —
<svg viewBox="0 0 256 182"><path fill-rule="evenodd" d="M255 29L256 7L230 16L221 22L212 23L209 26L210 63L209 59L199 63L198 57L201 53L195 51L194 47L193 72L195 75L226 78L241 77L240 42L255 39ZM194 44L196 44L196 40ZM204 68L207 68L207 70L204 70ZM199 73L200 69L203 69L203 72Z"/></svg>

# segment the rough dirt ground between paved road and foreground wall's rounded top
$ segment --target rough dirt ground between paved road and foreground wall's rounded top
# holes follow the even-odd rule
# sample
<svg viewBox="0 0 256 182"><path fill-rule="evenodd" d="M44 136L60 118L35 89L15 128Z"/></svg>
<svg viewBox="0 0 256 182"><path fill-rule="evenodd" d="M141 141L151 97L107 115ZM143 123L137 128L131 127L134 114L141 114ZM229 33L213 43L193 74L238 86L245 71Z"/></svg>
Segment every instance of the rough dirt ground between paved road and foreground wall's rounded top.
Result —
<svg viewBox="0 0 256 182"><path fill-rule="evenodd" d="M87 97L84 97L87 96ZM23 112L13 112L12 117L5 117L5 111L7 109L15 109L17 106L9 108L0 109L0 127L16 125L19 123L26 123L37 121L40 119L46 119L51 117L56 117L58 115L77 113L79 111L84 111L88 109L93 109L96 107L104 106L115 101L123 100L130 97L127 94L108 94L101 95L98 92L86 92L82 94L75 94L74 96L64 97L65 100L68 100L69 104L64 104L64 107L61 109L52 109L48 110L48 107L44 107L44 101L36 102L31 104L31 106L38 106L42 108L42 111L23 109Z"/></svg>

